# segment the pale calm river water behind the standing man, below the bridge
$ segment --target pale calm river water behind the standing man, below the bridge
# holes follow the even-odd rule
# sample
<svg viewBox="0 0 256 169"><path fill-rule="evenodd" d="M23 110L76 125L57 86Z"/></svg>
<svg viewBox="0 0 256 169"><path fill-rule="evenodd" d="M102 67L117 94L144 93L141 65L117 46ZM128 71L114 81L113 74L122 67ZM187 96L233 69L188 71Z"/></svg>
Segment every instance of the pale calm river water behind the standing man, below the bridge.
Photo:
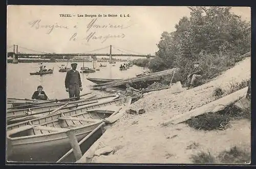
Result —
<svg viewBox="0 0 256 169"><path fill-rule="evenodd" d="M8 98L26 98L31 99L32 94L37 90L37 86L41 85L48 95L49 99L63 99L68 98L69 94L65 89L65 77L66 73L60 73L59 66L61 64L67 64L66 62L54 62L54 63L44 63L46 67L54 68L53 74L47 75L30 75L29 73L36 72L39 70L38 63L18 63L18 64L7 64L7 84L6 92ZM83 63L77 65L77 70L80 71ZM100 63L97 63L98 65ZM91 85L95 83L88 81L86 78L102 78L102 79L125 79L135 77L137 74L143 73L143 67L138 67L134 65L127 70L119 70L120 64L118 62L115 66L110 63L106 64L106 67L99 67L100 70L95 73L80 73L82 88L80 92L86 93ZM93 67L92 62L84 62L85 67Z"/></svg>

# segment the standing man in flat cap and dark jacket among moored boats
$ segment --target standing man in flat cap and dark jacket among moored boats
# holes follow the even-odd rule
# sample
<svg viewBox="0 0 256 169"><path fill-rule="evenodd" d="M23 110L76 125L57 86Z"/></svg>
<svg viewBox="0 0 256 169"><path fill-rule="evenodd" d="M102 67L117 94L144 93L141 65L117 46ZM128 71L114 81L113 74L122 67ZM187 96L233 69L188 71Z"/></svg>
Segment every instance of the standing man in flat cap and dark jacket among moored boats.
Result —
<svg viewBox="0 0 256 169"><path fill-rule="evenodd" d="M72 69L67 72L65 79L66 91L69 92L69 98L76 97L80 99L80 90L82 91L82 83L79 72L76 70L77 63L71 64Z"/></svg>

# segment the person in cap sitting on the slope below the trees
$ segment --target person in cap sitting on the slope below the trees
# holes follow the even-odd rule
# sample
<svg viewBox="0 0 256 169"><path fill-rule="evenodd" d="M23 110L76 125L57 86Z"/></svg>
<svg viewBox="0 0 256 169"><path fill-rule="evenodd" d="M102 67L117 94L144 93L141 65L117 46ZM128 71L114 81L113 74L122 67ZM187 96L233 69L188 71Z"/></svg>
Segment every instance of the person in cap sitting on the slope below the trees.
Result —
<svg viewBox="0 0 256 169"><path fill-rule="evenodd" d="M189 88L195 87L195 84L202 78L202 69L199 66L199 62L194 62L194 70L191 74L187 76L187 83Z"/></svg>

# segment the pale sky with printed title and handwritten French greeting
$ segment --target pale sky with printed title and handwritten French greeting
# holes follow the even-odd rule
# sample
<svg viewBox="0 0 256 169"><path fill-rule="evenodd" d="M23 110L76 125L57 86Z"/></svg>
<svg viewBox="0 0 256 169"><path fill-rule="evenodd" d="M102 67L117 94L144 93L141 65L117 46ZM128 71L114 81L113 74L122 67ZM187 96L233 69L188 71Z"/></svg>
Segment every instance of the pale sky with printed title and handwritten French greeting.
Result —
<svg viewBox="0 0 256 169"><path fill-rule="evenodd" d="M177 6L8 6L7 51L16 44L20 53L110 53L112 45L116 54L155 55L161 34L175 31L189 12ZM231 12L250 21L249 7Z"/></svg>

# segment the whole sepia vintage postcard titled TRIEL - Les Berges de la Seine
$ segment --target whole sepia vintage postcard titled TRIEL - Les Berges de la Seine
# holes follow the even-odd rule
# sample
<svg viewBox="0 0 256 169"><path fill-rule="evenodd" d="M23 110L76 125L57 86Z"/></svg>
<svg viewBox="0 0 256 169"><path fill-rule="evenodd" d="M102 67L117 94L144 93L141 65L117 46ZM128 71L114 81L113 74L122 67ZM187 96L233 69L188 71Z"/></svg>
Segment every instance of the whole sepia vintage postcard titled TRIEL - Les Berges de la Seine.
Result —
<svg viewBox="0 0 256 169"><path fill-rule="evenodd" d="M250 16L8 6L6 162L250 164Z"/></svg>

